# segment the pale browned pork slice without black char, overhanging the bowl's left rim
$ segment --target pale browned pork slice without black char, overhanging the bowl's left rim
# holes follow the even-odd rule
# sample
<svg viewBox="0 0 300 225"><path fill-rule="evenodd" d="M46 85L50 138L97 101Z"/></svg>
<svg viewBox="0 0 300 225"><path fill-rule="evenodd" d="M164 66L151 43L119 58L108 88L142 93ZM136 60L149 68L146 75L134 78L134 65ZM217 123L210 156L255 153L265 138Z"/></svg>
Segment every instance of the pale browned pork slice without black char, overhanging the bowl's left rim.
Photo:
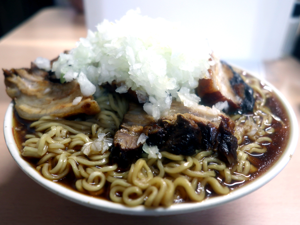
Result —
<svg viewBox="0 0 300 225"><path fill-rule="evenodd" d="M16 111L23 119L38 120L49 115L67 117L80 113L95 115L100 112L93 96L82 96L76 80L54 83L49 80L49 73L37 67L3 72L7 95L15 101ZM82 98L79 103L74 101L76 97Z"/></svg>

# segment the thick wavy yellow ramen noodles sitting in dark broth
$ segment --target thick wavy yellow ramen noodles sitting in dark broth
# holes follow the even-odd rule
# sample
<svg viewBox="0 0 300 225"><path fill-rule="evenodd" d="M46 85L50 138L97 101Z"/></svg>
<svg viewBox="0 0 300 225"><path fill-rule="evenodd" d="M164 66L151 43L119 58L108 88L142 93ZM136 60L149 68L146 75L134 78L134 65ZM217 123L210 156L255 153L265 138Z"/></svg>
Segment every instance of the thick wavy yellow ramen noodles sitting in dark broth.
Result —
<svg viewBox="0 0 300 225"><path fill-rule="evenodd" d="M80 150L84 144L97 140L99 133L113 137L122 122L128 102L112 94L96 99L101 113L92 119L70 121L45 116L33 122L30 126L35 133L25 136L22 156L38 158L36 170L49 180L59 181L73 174L76 190L95 196L108 193L111 201L129 206L199 202L209 192L226 195L233 184L253 179L260 169L252 163L253 157L263 155L273 142L269 137L275 132L272 121L286 126L266 106L272 93L255 78L247 76L245 81L253 88L256 101L253 115L231 117L238 139L238 160L233 167L227 167L214 151L198 150L193 156L161 152L161 159L148 159L145 154L126 171L110 164L109 151L84 155Z"/></svg>

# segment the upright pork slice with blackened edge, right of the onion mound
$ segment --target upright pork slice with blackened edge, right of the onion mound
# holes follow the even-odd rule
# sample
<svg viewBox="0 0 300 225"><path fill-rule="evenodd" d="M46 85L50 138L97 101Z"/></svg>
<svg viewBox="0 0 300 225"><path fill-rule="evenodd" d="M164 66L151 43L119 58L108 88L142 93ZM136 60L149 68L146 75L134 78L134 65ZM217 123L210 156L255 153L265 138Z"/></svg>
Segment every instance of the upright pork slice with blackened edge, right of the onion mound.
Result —
<svg viewBox="0 0 300 225"><path fill-rule="evenodd" d="M208 79L199 79L197 92L201 104L211 107L217 102L227 101L228 113L253 112L253 90L231 66L217 61L208 72Z"/></svg>

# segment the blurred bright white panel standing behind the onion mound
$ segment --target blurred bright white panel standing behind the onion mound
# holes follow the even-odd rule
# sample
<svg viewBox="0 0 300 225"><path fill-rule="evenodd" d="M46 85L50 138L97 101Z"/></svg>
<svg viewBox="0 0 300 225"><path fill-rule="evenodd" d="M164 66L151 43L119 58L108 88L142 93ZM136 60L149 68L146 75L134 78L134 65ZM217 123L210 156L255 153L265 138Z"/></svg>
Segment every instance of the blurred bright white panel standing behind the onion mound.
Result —
<svg viewBox="0 0 300 225"><path fill-rule="evenodd" d="M220 58L264 76L262 62L284 55L295 0L85 0L87 27L119 20L130 9L204 33ZM187 37L188 40L188 37Z"/></svg>

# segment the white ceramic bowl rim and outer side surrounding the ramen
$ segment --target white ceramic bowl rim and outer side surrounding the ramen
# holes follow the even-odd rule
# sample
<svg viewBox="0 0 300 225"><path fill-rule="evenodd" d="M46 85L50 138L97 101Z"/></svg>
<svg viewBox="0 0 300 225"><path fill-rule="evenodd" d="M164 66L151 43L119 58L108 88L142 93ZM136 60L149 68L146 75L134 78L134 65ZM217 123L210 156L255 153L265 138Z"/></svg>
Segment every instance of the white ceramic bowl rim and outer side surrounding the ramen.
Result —
<svg viewBox="0 0 300 225"><path fill-rule="evenodd" d="M270 85L268 82L265 83L273 89L275 94L277 94L289 117L290 137L286 145L286 149L284 150L283 154L278 159L278 161L271 168L269 168L267 172L265 172L255 180L231 191L228 195L208 198L202 202L176 204L170 206L169 208L158 207L154 209L149 209L145 208L144 206L127 207L119 203L114 203L79 193L75 190L71 190L67 187L64 187L56 182L47 180L46 178L41 176L41 174L38 173L35 170L35 168L33 168L28 162L23 160L23 158L20 155L19 149L15 143L15 139L13 137L12 132L13 102L10 103L5 115L4 137L10 154L13 156L14 160L17 162L19 167L28 176L30 176L33 180L35 180L48 190L52 191L53 193L58 194L59 196L62 196L81 205L120 214L154 216L182 214L186 212L204 210L238 199L257 190L259 187L262 187L264 184L268 183L271 179L273 179L286 166L286 164L289 162L293 155L298 140L298 124L295 113L293 112L292 107L289 105L289 103L286 101L283 95L276 88L274 88L273 85Z"/></svg>

